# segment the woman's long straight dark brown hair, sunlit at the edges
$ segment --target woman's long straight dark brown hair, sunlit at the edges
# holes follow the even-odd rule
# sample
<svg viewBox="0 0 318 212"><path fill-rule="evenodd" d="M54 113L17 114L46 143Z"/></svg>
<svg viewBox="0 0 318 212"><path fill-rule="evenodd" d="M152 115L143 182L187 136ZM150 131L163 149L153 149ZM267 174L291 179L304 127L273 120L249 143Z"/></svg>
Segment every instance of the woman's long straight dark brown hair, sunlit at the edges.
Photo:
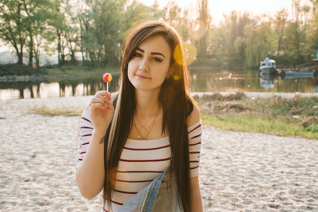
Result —
<svg viewBox="0 0 318 212"><path fill-rule="evenodd" d="M189 95L189 73L185 65L182 37L175 28L162 21L146 21L133 28L124 40L119 92L115 99L112 124L105 136L104 204L111 205L115 175L122 147L131 130L136 110L135 88L128 79L128 63L137 47L146 39L163 36L171 48L172 76L162 85L159 100L163 106L162 132L168 130L172 150L179 204L191 210L191 185L187 117L195 101Z"/></svg>

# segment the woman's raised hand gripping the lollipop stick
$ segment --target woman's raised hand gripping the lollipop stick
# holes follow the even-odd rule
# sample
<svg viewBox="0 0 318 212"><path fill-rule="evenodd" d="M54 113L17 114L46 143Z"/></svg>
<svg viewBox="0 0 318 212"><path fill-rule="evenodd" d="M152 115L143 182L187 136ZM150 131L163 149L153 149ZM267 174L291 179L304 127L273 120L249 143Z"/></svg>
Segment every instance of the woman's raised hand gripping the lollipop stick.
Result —
<svg viewBox="0 0 318 212"><path fill-rule="evenodd" d="M114 106L111 101L111 93L100 90L89 101L89 115L94 130L106 133L114 115Z"/></svg>

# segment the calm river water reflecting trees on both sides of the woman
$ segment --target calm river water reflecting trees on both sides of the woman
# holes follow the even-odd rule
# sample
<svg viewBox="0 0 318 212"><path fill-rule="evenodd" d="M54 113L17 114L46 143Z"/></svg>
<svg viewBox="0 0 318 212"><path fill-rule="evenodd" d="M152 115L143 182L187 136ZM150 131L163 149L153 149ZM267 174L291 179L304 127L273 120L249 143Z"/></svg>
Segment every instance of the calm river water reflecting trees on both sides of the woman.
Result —
<svg viewBox="0 0 318 212"><path fill-rule="evenodd" d="M191 92L318 93L318 77L262 76L258 70L193 70ZM117 90L119 74L113 74L111 92ZM59 81L0 82L0 101L94 95L106 89L102 76L66 78Z"/></svg>

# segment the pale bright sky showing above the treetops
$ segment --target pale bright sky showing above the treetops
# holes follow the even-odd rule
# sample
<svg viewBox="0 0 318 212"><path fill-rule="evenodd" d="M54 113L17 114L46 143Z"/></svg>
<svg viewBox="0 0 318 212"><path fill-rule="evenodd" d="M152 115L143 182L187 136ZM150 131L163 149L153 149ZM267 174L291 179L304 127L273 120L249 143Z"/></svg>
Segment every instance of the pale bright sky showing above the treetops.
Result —
<svg viewBox="0 0 318 212"><path fill-rule="evenodd" d="M155 0L139 0L147 6L151 6ZM166 6L169 0L157 0L161 6ZM196 7L197 0L174 0L180 7ZM209 0L210 15L213 23L217 24L223 19L222 14L230 14L231 11L247 11L253 15L274 15L282 8L291 11L292 0Z"/></svg>

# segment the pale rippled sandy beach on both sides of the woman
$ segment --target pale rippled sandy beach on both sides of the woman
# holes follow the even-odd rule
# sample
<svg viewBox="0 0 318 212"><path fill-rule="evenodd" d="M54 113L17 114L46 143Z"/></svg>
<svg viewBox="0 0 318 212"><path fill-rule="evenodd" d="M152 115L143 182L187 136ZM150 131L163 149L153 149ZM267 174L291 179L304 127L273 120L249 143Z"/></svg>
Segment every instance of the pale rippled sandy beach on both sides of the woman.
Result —
<svg viewBox="0 0 318 212"><path fill-rule="evenodd" d="M0 211L101 211L75 185L78 116L90 97L0 101ZM318 211L318 140L204 127L200 182L205 211Z"/></svg>

